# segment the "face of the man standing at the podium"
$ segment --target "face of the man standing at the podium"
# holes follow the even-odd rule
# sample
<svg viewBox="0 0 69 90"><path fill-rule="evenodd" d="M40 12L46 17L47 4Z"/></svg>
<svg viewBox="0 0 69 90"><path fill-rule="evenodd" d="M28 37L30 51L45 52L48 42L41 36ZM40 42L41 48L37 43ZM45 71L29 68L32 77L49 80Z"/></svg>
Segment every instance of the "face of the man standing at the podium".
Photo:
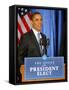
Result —
<svg viewBox="0 0 69 90"><path fill-rule="evenodd" d="M35 14L33 19L31 20L32 27L36 29L38 32L41 31L42 28L42 16L40 14Z"/></svg>

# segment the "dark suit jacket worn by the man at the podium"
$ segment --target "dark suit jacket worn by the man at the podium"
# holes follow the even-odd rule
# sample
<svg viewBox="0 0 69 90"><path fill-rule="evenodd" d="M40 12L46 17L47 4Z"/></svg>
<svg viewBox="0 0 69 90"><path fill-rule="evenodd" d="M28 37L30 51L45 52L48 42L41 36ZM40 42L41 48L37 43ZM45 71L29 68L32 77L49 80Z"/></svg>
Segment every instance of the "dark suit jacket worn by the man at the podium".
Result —
<svg viewBox="0 0 69 90"><path fill-rule="evenodd" d="M46 36L41 33L42 38L46 38ZM39 57L41 56L39 44L34 35L34 32L31 30L30 32L24 34L21 37L20 44L18 46L18 64L24 64L24 57Z"/></svg>

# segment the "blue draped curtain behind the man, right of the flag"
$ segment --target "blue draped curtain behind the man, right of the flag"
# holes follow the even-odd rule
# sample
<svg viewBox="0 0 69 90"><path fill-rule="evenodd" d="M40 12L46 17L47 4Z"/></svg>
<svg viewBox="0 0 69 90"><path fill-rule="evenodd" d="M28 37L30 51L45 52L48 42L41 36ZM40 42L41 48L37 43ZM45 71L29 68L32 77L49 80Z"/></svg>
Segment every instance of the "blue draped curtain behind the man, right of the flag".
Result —
<svg viewBox="0 0 69 90"><path fill-rule="evenodd" d="M47 55L58 56L61 48L62 10L32 9L32 12L40 12L43 17L42 32L50 40Z"/></svg>

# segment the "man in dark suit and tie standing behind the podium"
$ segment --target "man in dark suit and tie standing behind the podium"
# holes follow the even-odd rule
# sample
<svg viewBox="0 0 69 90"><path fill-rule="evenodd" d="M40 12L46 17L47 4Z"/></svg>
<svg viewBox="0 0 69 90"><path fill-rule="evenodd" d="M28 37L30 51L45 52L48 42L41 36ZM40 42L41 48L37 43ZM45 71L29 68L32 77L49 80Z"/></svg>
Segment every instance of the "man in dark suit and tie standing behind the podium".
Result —
<svg viewBox="0 0 69 90"><path fill-rule="evenodd" d="M40 46L40 38L46 40L46 36L41 33L42 16L40 13L35 12L32 14L31 25L32 29L21 37L18 47L18 64L21 73L23 73L24 70L24 57L40 57L43 55L43 47L41 48Z"/></svg>

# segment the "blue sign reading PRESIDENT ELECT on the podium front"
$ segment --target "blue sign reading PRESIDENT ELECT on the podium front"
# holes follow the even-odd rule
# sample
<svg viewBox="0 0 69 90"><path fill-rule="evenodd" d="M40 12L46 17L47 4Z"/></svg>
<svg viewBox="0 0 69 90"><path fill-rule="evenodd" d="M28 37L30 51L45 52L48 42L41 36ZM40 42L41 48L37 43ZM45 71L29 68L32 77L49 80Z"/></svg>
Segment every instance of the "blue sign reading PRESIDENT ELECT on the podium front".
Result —
<svg viewBox="0 0 69 90"><path fill-rule="evenodd" d="M24 65L25 80L64 78L64 57L29 57Z"/></svg>

